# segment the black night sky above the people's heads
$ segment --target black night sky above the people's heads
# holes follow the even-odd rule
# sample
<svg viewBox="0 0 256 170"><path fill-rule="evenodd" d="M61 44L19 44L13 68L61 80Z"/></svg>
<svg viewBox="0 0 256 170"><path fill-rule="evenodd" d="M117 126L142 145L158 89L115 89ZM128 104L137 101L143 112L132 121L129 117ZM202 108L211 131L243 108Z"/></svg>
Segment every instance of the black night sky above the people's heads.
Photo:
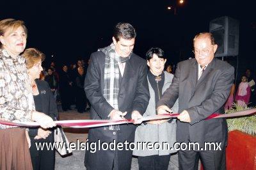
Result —
<svg viewBox="0 0 256 170"><path fill-rule="evenodd" d="M177 2L2 0L0 19L24 20L28 27L27 47L42 50L48 65L51 60L70 63L88 59L92 52L111 43L117 22L130 22L135 27L136 54L144 58L150 47L160 47L169 63L177 63L193 58L193 37L209 31L212 19L229 16L240 22L238 66L255 71L255 1L184 0L182 5ZM176 15L167 10L168 5L176 6Z"/></svg>

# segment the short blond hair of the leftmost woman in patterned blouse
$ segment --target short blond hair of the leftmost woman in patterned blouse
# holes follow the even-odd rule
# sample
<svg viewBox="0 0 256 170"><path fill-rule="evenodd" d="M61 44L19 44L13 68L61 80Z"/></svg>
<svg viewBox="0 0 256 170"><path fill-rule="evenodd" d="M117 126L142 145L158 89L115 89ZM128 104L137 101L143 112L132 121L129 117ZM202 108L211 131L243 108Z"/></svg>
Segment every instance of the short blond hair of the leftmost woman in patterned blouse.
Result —
<svg viewBox="0 0 256 170"><path fill-rule="evenodd" d="M28 35L28 29L26 28L23 20L15 20L15 19L4 19L0 20L0 36L4 36L6 31L10 30L13 31L18 27L22 26L26 36ZM0 42L0 48L3 47L3 44Z"/></svg>

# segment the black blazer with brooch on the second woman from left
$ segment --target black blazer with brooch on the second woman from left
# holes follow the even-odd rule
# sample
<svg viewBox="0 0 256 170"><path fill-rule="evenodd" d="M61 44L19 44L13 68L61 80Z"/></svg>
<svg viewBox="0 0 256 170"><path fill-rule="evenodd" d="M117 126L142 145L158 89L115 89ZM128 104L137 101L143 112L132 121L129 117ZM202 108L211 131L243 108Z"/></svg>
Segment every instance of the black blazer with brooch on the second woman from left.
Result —
<svg viewBox="0 0 256 170"><path fill-rule="evenodd" d="M49 87L48 82L40 81L36 79L36 85L42 101L42 109L43 109L42 112L50 116L53 120L56 120L59 115L57 104L52 95L52 91L51 91L51 88ZM29 128L29 136L35 137L37 133L38 133L38 128Z"/></svg>

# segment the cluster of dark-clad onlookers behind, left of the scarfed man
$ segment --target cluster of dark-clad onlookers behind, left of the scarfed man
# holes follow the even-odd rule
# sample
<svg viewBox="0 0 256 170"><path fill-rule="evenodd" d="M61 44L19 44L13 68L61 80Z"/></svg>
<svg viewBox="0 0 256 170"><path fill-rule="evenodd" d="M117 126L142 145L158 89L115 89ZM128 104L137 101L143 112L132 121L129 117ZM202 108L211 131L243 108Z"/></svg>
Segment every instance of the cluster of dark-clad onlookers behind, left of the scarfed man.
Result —
<svg viewBox="0 0 256 170"><path fill-rule="evenodd" d="M43 68L40 80L48 82L56 102L61 103L63 111L70 110L71 105L75 105L80 113L90 109L83 88L89 62L85 63L81 59L76 64L56 65L52 61L51 65Z"/></svg>

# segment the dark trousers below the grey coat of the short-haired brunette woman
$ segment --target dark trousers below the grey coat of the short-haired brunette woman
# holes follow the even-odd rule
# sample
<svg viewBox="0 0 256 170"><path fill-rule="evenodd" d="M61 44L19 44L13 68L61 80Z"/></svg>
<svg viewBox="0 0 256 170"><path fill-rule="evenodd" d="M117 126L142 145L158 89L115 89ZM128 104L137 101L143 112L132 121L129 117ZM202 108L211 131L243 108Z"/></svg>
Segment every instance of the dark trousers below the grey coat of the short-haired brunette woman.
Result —
<svg viewBox="0 0 256 170"><path fill-rule="evenodd" d="M171 155L138 157L140 170L168 169Z"/></svg>

